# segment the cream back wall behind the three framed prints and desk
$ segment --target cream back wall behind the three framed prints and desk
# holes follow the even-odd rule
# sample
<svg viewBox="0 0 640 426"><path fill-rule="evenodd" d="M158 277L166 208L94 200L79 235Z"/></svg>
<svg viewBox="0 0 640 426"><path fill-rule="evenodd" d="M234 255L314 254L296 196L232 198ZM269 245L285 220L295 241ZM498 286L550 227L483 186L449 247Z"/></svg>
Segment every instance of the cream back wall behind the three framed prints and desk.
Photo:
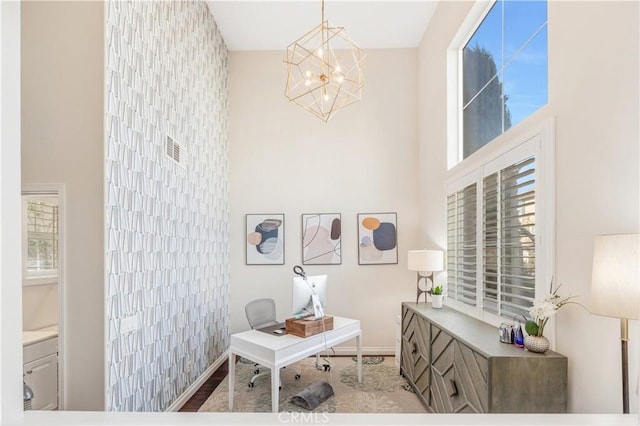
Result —
<svg viewBox="0 0 640 426"><path fill-rule="evenodd" d="M285 98L284 52L230 54L232 332L249 327L254 298L290 315L301 214L341 213L342 264L305 270L329 275L327 312L359 318L370 353L393 353L400 303L415 297L406 252L417 248L416 51L367 54L362 101L328 123ZM358 265L356 215L375 212L398 214L397 265ZM285 214L284 265L245 265L247 213Z"/></svg>

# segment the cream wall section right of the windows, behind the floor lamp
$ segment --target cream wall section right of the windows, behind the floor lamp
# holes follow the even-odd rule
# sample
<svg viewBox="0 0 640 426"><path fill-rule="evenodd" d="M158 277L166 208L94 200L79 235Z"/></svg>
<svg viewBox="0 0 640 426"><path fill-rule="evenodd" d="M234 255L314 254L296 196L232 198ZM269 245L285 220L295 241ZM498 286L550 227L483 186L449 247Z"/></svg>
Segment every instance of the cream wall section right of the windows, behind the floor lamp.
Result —
<svg viewBox="0 0 640 426"><path fill-rule="evenodd" d="M638 2L557 2L549 8L550 91L557 117L556 276L565 291L582 295L587 304L594 236L640 231L638 12ZM559 314L557 336L558 350L570 360L572 411L620 412L619 321L566 309ZM630 336L633 413L640 321L630 322Z"/></svg>

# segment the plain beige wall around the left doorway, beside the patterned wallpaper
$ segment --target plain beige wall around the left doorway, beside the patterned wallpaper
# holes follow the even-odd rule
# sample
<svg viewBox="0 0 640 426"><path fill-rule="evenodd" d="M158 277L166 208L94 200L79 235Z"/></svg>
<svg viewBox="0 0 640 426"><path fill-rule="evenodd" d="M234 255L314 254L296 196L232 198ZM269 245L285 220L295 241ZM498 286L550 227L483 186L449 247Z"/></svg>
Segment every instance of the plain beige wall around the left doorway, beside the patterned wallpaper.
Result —
<svg viewBox="0 0 640 426"><path fill-rule="evenodd" d="M66 197L64 408L104 408L104 4L22 2L22 183Z"/></svg>

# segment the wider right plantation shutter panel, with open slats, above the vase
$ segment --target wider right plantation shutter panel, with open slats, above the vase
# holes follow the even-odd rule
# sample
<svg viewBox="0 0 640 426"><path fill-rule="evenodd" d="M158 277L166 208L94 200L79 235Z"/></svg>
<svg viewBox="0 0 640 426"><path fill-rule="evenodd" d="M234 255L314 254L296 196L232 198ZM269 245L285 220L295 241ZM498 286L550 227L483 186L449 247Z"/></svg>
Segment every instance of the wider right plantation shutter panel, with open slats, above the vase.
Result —
<svg viewBox="0 0 640 426"><path fill-rule="evenodd" d="M483 310L527 315L535 298L535 157L483 179Z"/></svg>

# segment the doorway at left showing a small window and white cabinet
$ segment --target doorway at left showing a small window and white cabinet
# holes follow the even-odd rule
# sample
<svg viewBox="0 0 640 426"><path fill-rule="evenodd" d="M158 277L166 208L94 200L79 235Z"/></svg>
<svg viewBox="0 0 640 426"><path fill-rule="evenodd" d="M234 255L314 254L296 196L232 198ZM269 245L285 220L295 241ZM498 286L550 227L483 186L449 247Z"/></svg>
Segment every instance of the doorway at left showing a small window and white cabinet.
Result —
<svg viewBox="0 0 640 426"><path fill-rule="evenodd" d="M23 186L23 374L33 409L65 407L64 206L62 184Z"/></svg>

